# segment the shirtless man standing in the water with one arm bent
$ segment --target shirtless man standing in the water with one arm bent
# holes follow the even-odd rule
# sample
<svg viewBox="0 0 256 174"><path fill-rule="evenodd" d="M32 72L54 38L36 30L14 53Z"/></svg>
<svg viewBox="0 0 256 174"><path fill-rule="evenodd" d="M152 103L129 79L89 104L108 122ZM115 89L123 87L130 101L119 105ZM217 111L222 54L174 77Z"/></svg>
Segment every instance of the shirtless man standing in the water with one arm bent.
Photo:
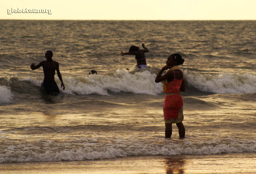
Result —
<svg viewBox="0 0 256 174"><path fill-rule="evenodd" d="M44 72L44 81L41 84L41 87L47 91L47 92L57 92L59 93L58 85L56 84L54 80L55 70L57 71L57 75L59 77L59 80L61 81L60 87L63 86L63 90L65 90L65 86L62 81L62 77L59 71L59 63L54 61L52 59L53 52L48 50L45 52L45 61L40 62L38 65L35 65L32 63L30 65L30 68L32 70L35 70L41 66L43 66L43 72Z"/></svg>

